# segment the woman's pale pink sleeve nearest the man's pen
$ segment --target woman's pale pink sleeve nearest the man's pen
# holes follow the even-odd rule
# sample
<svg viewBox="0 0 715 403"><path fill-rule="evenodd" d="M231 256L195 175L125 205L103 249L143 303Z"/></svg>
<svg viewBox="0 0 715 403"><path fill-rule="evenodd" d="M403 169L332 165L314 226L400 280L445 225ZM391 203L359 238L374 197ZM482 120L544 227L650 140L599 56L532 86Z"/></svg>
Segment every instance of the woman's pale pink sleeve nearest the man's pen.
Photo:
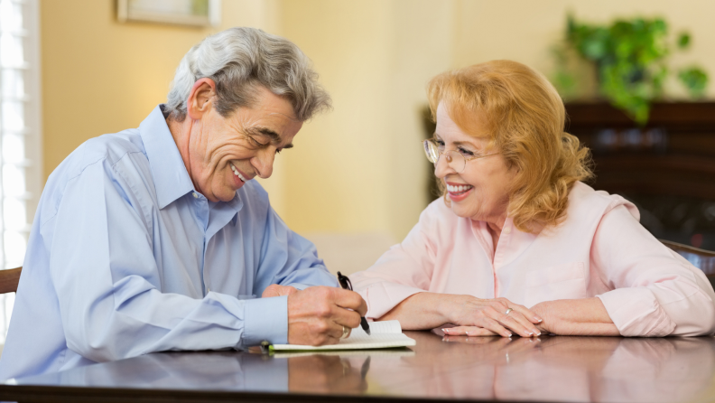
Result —
<svg viewBox="0 0 715 403"><path fill-rule="evenodd" d="M402 243L395 245L366 271L350 275L353 287L367 302L367 317L378 319L408 296L427 291L434 267L433 217L430 206Z"/></svg>

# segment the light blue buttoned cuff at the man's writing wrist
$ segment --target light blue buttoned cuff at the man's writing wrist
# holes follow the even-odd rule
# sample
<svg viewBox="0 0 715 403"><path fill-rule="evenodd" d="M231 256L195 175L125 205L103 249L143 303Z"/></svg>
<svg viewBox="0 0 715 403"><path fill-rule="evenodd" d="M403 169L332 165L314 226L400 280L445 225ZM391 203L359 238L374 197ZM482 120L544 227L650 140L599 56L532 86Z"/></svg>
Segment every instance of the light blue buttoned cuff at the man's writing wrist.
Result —
<svg viewBox="0 0 715 403"><path fill-rule="evenodd" d="M246 300L244 308L244 346L288 343L288 296Z"/></svg>

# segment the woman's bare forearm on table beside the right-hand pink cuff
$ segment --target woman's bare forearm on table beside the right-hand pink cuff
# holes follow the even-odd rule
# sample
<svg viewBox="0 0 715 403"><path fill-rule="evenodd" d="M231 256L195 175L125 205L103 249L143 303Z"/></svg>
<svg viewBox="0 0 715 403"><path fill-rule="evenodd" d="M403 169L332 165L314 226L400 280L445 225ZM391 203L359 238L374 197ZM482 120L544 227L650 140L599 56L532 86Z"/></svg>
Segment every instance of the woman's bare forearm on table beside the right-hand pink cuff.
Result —
<svg viewBox="0 0 715 403"><path fill-rule="evenodd" d="M532 306L543 317L542 332L570 336L619 336L606 307L597 297L544 301Z"/></svg>

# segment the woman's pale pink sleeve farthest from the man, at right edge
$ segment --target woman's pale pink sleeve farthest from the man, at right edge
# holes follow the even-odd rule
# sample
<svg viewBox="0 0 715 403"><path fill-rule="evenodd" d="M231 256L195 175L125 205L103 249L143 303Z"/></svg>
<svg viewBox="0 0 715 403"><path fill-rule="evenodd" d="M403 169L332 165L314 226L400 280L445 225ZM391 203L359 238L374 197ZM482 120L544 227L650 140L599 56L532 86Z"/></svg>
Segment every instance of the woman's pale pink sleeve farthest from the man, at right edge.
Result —
<svg viewBox="0 0 715 403"><path fill-rule="evenodd" d="M715 293L707 277L655 239L625 206L600 221L591 267L614 288L598 296L622 335L715 333Z"/></svg>

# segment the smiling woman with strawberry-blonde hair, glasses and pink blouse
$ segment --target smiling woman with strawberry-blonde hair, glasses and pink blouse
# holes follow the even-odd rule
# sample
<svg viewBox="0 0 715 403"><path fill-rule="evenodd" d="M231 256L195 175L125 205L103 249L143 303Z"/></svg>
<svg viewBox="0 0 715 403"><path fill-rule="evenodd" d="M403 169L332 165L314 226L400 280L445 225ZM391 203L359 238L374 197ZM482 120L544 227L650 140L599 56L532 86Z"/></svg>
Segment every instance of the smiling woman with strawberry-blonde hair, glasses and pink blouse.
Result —
<svg viewBox="0 0 715 403"><path fill-rule="evenodd" d="M715 332L701 271L632 203L580 182L589 150L563 132L543 75L489 61L442 73L428 93L437 128L424 148L444 198L353 276L368 317L469 336Z"/></svg>

